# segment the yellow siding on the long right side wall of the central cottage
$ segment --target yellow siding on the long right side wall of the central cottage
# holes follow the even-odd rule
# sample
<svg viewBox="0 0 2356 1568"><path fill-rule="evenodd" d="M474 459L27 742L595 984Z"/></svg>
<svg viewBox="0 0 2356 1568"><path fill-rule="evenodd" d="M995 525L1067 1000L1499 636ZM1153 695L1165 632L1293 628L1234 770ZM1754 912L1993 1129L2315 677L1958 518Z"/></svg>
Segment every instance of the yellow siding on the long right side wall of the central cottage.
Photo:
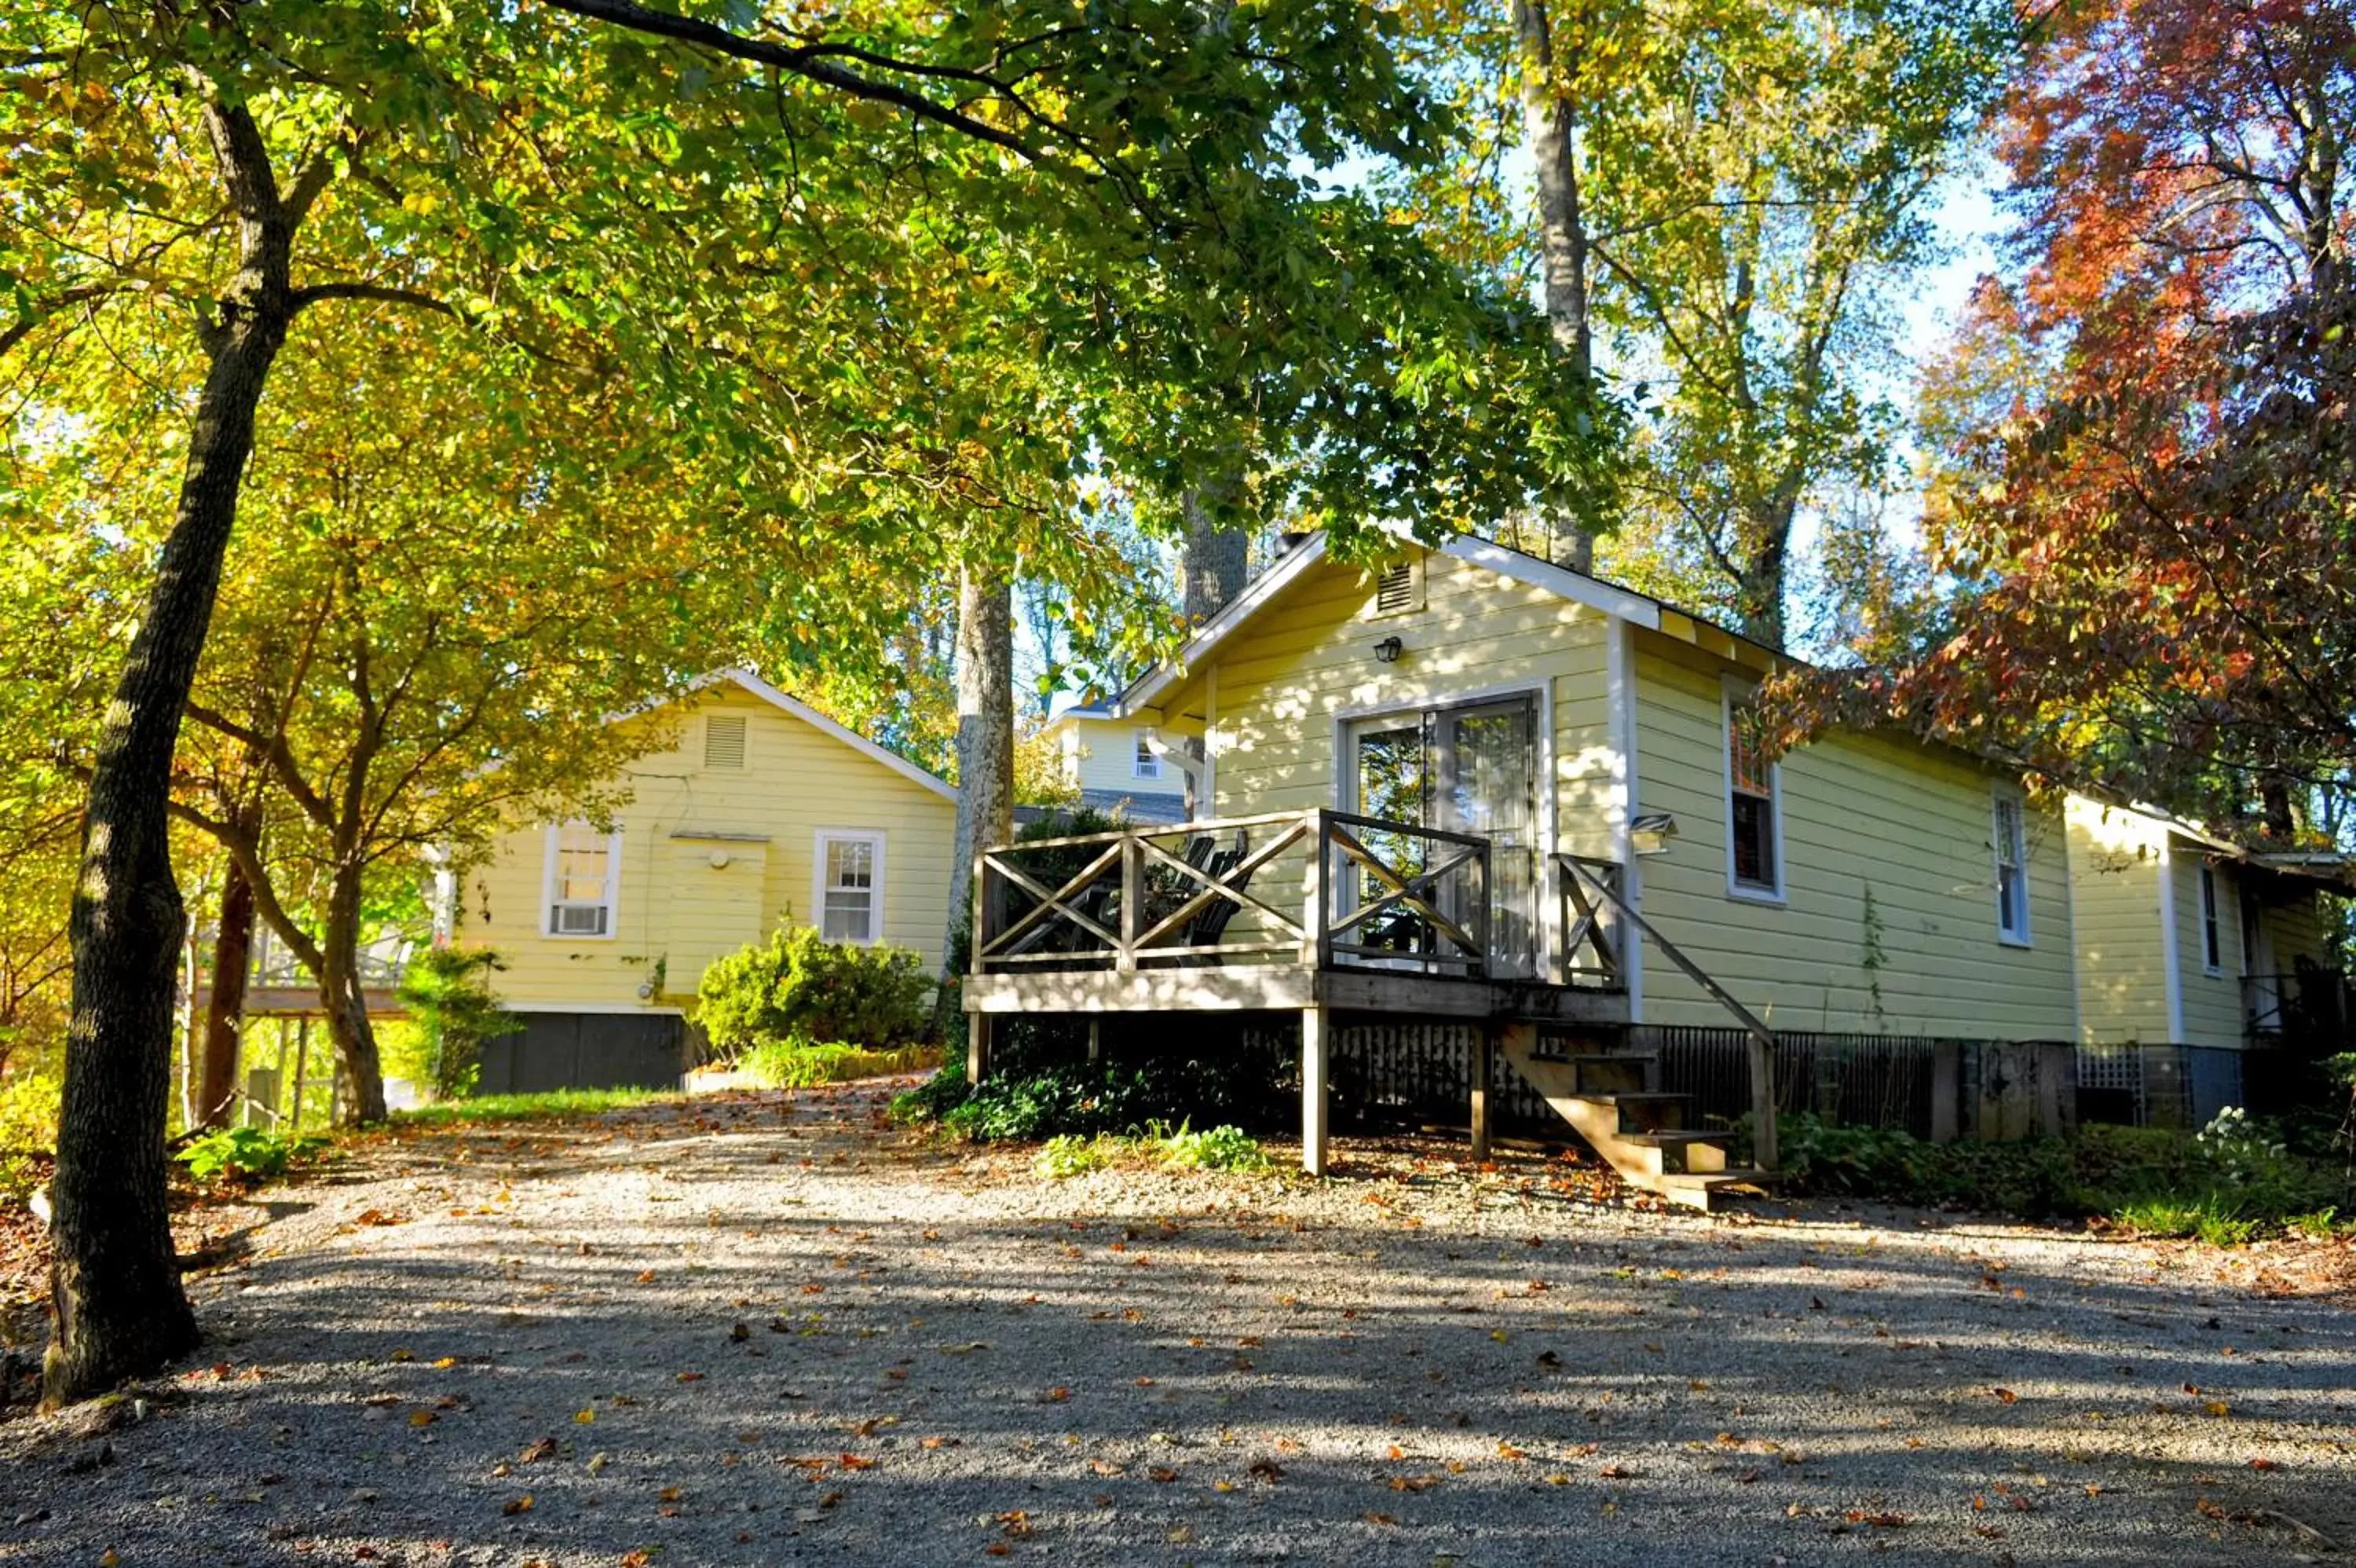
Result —
<svg viewBox="0 0 2356 1568"><path fill-rule="evenodd" d="M1668 854L1642 861L1644 917L1774 1028L2069 1037L2062 818L2026 813L2031 946L2007 946L1996 934L1996 776L1955 752L1845 733L1793 752L1781 764L1788 903L1727 894L1722 667L1637 637L1637 809L1673 811L1680 828ZM1659 957L1644 962L1644 1021L1729 1023Z"/></svg>

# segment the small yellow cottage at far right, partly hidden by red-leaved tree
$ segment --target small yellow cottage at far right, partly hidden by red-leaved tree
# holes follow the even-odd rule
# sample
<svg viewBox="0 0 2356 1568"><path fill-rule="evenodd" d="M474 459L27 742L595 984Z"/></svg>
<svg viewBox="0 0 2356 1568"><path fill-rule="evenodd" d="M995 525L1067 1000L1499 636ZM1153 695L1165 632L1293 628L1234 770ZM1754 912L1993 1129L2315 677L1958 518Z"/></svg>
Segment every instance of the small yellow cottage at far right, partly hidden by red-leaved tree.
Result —
<svg viewBox="0 0 2356 1568"><path fill-rule="evenodd" d="M2340 1033L2328 891L2337 854L2257 854L2156 806L2066 804L2078 922L2080 1078L2142 1118L2205 1122L2243 1101L2243 1059ZM2182 1047L2177 1052L2116 1047Z"/></svg>

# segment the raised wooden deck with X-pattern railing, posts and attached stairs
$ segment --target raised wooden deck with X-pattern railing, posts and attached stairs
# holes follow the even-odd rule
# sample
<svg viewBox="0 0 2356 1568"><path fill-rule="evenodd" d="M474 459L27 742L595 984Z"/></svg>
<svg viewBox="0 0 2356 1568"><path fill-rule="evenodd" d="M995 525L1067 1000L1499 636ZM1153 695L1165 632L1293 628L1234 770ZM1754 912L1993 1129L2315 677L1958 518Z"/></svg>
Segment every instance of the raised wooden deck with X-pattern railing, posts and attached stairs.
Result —
<svg viewBox="0 0 2356 1568"><path fill-rule="evenodd" d="M1595 1030L1548 1103L1626 1177L1708 1205L1727 1172L1722 1134L1687 1132L1659 1094L1597 1089L1581 1063L1609 1059L1630 1023L1628 943L1663 957L1722 1002L1753 1037L1760 1165L1774 1167L1774 1035L1621 891L1621 865L1548 854L1553 917L1491 896L1487 837L1348 811L1275 811L1209 823L1027 839L973 858L973 950L961 1004L966 1073L990 1073L999 1019L1105 1014L1298 1014L1301 1162L1324 1174L1333 1026L1350 1016L1477 1021L1472 1148L1489 1148L1494 1056L1520 1047L1527 1073L1555 1075L1531 1045L1546 1026ZM1527 971L1536 971L1534 976ZM1091 1052L1098 1030L1088 1028ZM1527 1075L1524 1073L1524 1075ZM1541 1089L1546 1085L1538 1085ZM1560 1087L1560 1085L1557 1085ZM1621 1103L1626 1101L1626 1106ZM1642 1120L1626 1125L1628 1106Z"/></svg>

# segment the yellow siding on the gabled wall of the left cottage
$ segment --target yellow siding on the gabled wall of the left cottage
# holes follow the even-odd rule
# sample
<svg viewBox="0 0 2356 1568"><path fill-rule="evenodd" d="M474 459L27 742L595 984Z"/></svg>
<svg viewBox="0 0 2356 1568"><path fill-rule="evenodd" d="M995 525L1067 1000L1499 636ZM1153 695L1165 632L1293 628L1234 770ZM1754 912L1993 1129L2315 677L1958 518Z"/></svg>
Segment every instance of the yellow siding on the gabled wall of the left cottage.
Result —
<svg viewBox="0 0 2356 1568"><path fill-rule="evenodd" d="M744 717L742 769L704 769L704 714ZM497 988L511 1007L681 1007L712 957L815 920L820 828L884 835L881 936L938 967L954 802L735 686L634 722L676 736L624 771L610 938L542 934L544 828L504 835L464 882L459 938L507 960ZM657 967L660 993L641 997Z"/></svg>

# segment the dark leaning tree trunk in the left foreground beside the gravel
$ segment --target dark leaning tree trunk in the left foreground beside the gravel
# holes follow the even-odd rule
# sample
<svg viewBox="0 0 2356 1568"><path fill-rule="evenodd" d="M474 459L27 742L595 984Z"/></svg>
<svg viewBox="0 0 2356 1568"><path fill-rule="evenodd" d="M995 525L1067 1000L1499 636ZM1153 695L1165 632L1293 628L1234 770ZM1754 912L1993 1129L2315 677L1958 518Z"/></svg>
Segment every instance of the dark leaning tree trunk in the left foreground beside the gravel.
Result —
<svg viewBox="0 0 2356 1568"><path fill-rule="evenodd" d="M57 1120L42 1396L64 1403L196 1349L165 1207L165 1099L186 913L167 802L179 722L205 651L254 415L294 314L292 219L252 116L207 106L238 274L205 328L210 368L155 582L99 731L73 896L73 1023Z"/></svg>

